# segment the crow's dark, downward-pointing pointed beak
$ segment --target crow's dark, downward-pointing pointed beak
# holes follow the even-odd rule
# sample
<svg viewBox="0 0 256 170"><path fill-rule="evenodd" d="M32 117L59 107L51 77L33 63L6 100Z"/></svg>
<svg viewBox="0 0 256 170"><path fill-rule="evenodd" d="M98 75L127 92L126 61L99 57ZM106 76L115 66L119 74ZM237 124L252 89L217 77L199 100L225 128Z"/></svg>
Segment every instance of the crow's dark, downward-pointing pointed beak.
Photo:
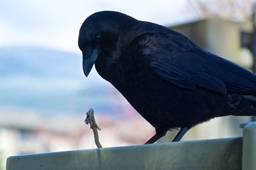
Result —
<svg viewBox="0 0 256 170"><path fill-rule="evenodd" d="M83 70L84 70L85 76L87 77L92 69L92 66L95 60L99 55L99 47L92 48L90 46L86 46L86 48L82 50L82 53L83 53Z"/></svg>

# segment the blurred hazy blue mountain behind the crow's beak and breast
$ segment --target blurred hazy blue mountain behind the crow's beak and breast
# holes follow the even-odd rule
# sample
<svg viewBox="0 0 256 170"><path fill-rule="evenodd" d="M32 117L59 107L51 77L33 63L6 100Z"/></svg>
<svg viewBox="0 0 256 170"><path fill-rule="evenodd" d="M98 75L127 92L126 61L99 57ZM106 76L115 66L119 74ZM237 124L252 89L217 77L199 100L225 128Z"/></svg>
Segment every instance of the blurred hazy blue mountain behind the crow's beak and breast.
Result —
<svg viewBox="0 0 256 170"><path fill-rule="evenodd" d="M81 55L28 47L0 48L1 108L42 114L84 114L93 108L115 117L132 110L95 69L85 78Z"/></svg>

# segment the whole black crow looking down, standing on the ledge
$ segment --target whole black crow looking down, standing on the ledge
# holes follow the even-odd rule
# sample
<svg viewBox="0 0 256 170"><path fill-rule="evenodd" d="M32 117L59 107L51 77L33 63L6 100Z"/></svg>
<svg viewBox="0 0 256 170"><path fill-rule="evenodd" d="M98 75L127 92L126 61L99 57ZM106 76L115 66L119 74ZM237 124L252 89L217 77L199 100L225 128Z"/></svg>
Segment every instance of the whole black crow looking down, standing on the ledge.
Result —
<svg viewBox="0 0 256 170"><path fill-rule="evenodd" d="M163 25L99 11L79 30L87 77L93 65L155 129L145 144L228 115L255 116L256 76Z"/></svg>

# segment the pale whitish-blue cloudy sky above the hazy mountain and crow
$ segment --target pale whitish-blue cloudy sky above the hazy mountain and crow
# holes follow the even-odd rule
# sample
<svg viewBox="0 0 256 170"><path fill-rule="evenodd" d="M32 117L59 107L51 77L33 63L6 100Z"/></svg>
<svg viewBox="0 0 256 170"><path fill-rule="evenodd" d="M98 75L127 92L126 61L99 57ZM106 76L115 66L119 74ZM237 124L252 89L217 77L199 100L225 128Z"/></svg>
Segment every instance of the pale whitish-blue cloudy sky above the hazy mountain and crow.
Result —
<svg viewBox="0 0 256 170"><path fill-rule="evenodd" d="M84 19L114 10L162 25L197 18L186 0L10 0L0 3L0 46L44 46L79 52L77 37Z"/></svg>

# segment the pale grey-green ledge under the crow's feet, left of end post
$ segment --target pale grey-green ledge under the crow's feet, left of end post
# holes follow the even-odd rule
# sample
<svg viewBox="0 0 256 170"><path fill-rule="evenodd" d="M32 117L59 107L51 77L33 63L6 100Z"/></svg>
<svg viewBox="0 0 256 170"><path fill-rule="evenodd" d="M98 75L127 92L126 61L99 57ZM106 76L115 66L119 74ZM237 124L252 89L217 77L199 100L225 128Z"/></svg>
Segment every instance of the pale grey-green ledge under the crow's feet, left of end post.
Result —
<svg viewBox="0 0 256 170"><path fill-rule="evenodd" d="M184 141L8 157L6 170L241 169L242 138Z"/></svg>

